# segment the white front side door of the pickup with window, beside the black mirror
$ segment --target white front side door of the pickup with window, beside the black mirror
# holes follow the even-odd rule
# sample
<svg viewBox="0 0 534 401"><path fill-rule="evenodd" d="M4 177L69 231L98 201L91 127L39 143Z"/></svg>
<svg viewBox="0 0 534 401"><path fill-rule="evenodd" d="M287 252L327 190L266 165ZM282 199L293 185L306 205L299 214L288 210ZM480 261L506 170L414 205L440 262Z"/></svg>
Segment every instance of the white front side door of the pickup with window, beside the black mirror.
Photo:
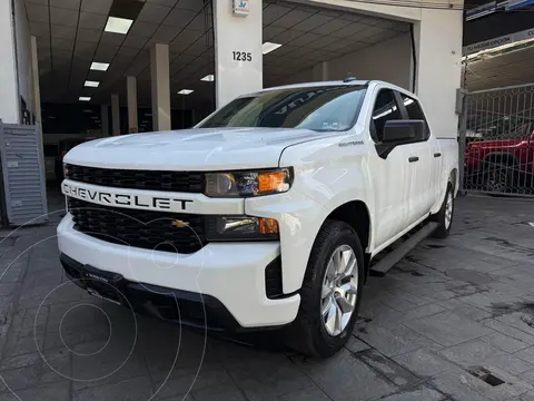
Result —
<svg viewBox="0 0 534 401"><path fill-rule="evenodd" d="M398 97L392 89L378 89L370 116L369 131L375 143L384 137L384 125L388 120L402 119ZM409 145L396 146L385 158L370 153L370 175L374 177L376 229L375 248L380 248L406 228L411 190L408 168Z"/></svg>

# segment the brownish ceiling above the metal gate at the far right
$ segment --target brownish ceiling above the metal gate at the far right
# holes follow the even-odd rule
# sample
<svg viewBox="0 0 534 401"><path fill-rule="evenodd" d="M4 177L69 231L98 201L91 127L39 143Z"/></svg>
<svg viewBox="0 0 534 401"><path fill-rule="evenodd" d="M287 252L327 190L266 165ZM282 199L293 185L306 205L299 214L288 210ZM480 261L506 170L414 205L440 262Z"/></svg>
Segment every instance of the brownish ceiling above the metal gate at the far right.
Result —
<svg viewBox="0 0 534 401"><path fill-rule="evenodd" d="M534 46L523 50L468 62L465 88L482 90L534 81Z"/></svg>

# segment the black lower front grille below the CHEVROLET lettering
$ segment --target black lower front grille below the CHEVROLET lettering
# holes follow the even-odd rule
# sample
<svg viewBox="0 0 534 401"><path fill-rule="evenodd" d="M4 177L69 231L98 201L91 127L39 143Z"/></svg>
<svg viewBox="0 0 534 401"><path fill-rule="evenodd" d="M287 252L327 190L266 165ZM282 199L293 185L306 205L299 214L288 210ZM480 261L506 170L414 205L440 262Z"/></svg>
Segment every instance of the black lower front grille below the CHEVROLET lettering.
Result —
<svg viewBox="0 0 534 401"><path fill-rule="evenodd" d="M68 197L75 229L92 237L146 250L190 254L206 245L202 215L109 207ZM180 219L188 227L175 227Z"/></svg>

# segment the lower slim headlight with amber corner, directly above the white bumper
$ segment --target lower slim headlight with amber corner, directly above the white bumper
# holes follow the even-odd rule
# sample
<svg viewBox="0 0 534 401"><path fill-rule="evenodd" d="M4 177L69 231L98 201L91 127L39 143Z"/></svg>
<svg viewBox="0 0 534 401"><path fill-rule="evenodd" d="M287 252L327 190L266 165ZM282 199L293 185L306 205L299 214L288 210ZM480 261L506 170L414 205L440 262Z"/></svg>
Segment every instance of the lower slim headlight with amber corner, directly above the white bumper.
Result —
<svg viewBox="0 0 534 401"><path fill-rule="evenodd" d="M250 216L207 216L209 241L278 239L278 222Z"/></svg>

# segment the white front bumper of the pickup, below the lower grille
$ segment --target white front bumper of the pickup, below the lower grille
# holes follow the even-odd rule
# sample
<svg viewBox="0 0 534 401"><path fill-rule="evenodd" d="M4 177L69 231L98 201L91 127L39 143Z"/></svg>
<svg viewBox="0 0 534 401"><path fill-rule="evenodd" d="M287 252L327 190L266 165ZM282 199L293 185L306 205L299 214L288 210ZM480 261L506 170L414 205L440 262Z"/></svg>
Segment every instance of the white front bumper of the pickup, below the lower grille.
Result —
<svg viewBox="0 0 534 401"><path fill-rule="evenodd" d="M78 271L88 266L98 275L116 273L126 297L132 293L134 299L148 297L149 303L158 304L161 294L167 294L178 300L178 306L180 300L182 305L195 306L194 316L179 319L181 323L197 325L200 310L204 317L202 305L208 319L217 315L210 319L216 324L208 322L208 327L224 330L280 326L293 322L298 312L298 294L276 300L266 294L265 268L279 256L279 243L210 243L194 254L174 254L93 238L75 231L67 214L58 226L58 246L63 265L70 261L67 264ZM76 278L76 273L69 275ZM152 314L167 320L174 316L165 309Z"/></svg>

